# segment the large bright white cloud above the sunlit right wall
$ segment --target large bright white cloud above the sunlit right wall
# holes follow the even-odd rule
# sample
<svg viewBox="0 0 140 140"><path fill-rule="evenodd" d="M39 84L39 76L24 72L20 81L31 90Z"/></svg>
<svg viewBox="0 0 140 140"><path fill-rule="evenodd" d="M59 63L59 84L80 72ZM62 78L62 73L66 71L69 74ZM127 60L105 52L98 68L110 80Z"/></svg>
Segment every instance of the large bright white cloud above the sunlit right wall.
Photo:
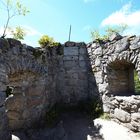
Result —
<svg viewBox="0 0 140 140"><path fill-rule="evenodd" d="M101 22L102 27L119 24L127 24L128 33L130 31L132 34L137 34L140 31L140 10L133 11L132 3L129 2Z"/></svg>

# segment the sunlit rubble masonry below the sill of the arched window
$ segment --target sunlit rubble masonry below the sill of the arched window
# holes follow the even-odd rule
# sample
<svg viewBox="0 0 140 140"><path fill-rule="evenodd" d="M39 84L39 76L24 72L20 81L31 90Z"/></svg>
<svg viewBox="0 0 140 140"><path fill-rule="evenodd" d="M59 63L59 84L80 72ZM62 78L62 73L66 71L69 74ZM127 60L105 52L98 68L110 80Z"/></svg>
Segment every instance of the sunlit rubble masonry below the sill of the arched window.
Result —
<svg viewBox="0 0 140 140"><path fill-rule="evenodd" d="M111 118L130 130L140 132L140 95L110 98Z"/></svg>

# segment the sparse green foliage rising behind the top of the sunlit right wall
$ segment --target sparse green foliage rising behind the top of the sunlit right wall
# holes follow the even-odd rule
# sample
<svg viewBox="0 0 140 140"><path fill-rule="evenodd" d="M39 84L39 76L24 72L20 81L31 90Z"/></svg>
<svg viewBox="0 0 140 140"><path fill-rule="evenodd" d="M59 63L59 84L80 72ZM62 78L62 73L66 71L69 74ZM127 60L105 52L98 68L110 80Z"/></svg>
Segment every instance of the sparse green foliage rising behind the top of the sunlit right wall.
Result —
<svg viewBox="0 0 140 140"><path fill-rule="evenodd" d="M128 26L126 24L121 24L116 27L109 26L105 29L105 35L101 35L99 30L94 30L91 32L91 37L92 40L108 40L113 33L122 34L127 28Z"/></svg>

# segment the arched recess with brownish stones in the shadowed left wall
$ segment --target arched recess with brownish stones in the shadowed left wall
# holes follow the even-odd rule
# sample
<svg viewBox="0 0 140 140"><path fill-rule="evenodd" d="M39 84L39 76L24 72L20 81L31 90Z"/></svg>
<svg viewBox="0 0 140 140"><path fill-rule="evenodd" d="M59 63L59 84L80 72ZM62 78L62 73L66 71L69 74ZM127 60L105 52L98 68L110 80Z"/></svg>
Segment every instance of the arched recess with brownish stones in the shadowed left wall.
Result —
<svg viewBox="0 0 140 140"><path fill-rule="evenodd" d="M11 130L32 127L40 119L45 87L39 77L28 71L8 75L8 86L12 86L13 91L5 104Z"/></svg>

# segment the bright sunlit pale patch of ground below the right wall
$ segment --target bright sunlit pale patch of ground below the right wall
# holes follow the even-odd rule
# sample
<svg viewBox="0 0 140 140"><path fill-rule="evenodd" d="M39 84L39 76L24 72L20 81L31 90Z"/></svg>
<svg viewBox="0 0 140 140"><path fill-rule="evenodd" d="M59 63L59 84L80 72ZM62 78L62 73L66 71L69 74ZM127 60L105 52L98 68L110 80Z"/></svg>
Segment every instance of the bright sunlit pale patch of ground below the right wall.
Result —
<svg viewBox="0 0 140 140"><path fill-rule="evenodd" d="M101 127L99 133L104 140L140 140L140 133L134 133L114 121L96 119L94 125Z"/></svg>

